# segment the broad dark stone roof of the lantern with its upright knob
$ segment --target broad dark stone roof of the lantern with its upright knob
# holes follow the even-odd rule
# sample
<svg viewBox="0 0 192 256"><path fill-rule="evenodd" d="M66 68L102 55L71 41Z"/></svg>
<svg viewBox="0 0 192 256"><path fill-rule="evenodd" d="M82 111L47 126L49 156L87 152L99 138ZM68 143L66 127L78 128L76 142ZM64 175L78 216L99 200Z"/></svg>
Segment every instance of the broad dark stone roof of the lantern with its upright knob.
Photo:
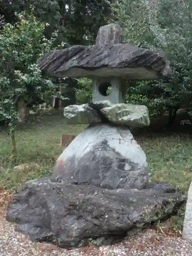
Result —
<svg viewBox="0 0 192 256"><path fill-rule="evenodd" d="M121 29L101 27L96 45L53 50L39 60L40 68L55 77L119 77L124 80L169 78L172 74L163 54L121 42Z"/></svg>

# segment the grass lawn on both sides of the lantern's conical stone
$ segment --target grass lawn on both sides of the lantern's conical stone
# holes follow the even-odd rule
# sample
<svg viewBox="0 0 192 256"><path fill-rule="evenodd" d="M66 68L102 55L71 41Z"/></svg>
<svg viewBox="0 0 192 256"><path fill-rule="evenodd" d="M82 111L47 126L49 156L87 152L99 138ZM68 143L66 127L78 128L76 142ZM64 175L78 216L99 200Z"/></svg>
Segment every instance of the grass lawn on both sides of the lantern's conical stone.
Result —
<svg viewBox="0 0 192 256"><path fill-rule="evenodd" d="M62 133L77 135L85 126L67 125L62 113L31 120L16 132L17 159L10 159L10 139L0 132L0 190L12 190L18 184L45 176L53 167L52 159L62 152L59 146ZM192 180L192 141L189 135L153 134L141 131L135 135L143 148L152 170L153 179L168 182L187 193ZM13 167L20 163L38 163L40 170L18 172ZM184 209L172 218L176 231L182 228Z"/></svg>

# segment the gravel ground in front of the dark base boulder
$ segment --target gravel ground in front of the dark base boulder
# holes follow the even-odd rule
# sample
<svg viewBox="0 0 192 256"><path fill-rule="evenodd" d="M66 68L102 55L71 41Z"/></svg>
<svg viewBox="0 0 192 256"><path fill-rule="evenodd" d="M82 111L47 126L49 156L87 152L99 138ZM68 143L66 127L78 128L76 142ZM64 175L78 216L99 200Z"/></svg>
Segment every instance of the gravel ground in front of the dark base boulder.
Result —
<svg viewBox="0 0 192 256"><path fill-rule="evenodd" d="M182 238L163 236L154 229L147 229L112 246L66 250L51 244L32 243L0 216L0 256L191 256L191 253L192 245Z"/></svg>

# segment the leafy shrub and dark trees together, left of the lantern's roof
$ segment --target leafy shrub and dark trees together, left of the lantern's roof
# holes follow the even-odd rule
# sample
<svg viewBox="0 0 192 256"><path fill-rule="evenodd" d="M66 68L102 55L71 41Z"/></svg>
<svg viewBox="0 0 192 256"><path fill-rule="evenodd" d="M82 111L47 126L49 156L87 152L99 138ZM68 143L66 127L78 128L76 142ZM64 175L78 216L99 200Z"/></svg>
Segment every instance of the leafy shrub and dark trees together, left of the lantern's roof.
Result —
<svg viewBox="0 0 192 256"><path fill-rule="evenodd" d="M0 123L11 132L12 153L19 110L61 97L58 79L39 70L39 56L55 47L90 44L110 13L109 2L101 0L0 0ZM73 87L79 82L67 79L61 84L69 98L74 97Z"/></svg>

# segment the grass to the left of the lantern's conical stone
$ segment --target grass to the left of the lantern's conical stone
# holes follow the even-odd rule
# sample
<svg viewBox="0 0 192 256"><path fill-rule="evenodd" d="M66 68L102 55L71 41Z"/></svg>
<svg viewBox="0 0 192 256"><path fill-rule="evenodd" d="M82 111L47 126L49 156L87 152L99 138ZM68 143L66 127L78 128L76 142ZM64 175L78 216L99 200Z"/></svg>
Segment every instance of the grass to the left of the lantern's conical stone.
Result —
<svg viewBox="0 0 192 256"><path fill-rule="evenodd" d="M17 157L10 158L11 143L5 131L0 133L0 189L14 189L18 184L30 179L51 173L53 158L62 153L60 138L62 133L77 135L84 129L84 125L66 125L63 115L47 115L39 118L35 123L30 121L27 126L20 127L15 133ZM37 163L40 170L24 170L18 172L13 169L21 163Z"/></svg>

